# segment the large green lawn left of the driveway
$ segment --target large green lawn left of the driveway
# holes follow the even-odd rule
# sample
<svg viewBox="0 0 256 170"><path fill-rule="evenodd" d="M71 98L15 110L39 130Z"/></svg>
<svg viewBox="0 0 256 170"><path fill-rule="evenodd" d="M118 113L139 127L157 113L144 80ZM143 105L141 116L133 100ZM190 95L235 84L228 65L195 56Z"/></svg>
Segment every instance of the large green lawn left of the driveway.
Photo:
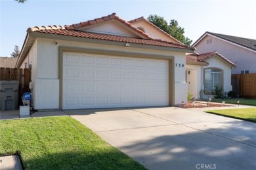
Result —
<svg viewBox="0 0 256 170"><path fill-rule="evenodd" d="M72 117L0 121L0 156L24 169L145 169Z"/></svg>

